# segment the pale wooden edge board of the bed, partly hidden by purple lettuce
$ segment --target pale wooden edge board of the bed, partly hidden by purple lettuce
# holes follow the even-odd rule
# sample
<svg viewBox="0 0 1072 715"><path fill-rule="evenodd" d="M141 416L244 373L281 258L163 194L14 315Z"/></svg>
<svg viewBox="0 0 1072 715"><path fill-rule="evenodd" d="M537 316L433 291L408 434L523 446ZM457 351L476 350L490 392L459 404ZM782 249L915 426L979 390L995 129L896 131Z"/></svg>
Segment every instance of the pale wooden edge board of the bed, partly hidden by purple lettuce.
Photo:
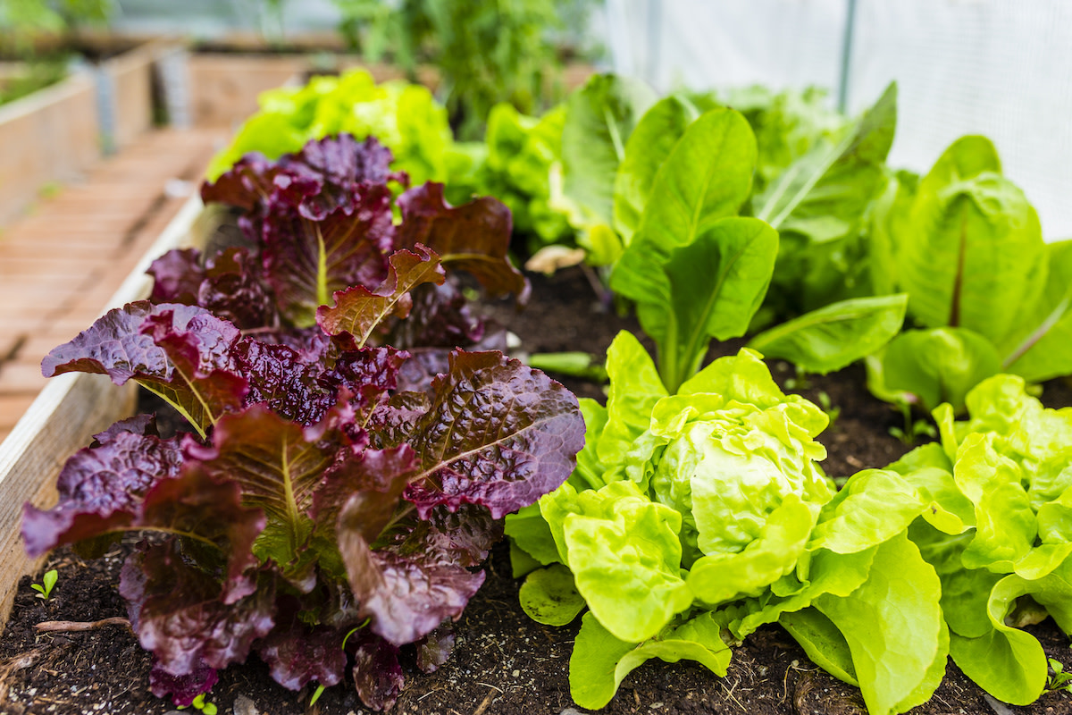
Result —
<svg viewBox="0 0 1072 715"><path fill-rule="evenodd" d="M160 253L191 240L200 199L191 197L163 230L109 304L144 297L150 279L145 268ZM134 383L117 388L104 375L61 375L48 381L26 414L0 443L0 619L8 620L15 590L43 558L26 555L21 540L23 504L47 507L56 501L56 477L66 458L89 437L134 409ZM4 428L0 426L0 433Z"/></svg>

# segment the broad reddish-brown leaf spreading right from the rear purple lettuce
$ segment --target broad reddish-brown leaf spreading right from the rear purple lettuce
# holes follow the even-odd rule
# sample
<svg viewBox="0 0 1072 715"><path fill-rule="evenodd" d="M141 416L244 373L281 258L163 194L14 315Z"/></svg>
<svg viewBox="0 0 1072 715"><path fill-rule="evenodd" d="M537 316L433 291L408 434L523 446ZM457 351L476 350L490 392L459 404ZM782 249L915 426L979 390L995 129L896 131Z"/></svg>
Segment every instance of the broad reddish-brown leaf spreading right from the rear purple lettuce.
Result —
<svg viewBox="0 0 1072 715"><path fill-rule="evenodd" d="M528 281L507 256L512 220L505 204L483 196L451 207L443 184L433 182L410 189L398 204L399 248L423 243L440 254L444 266L472 273L491 296L512 293L519 302L527 300Z"/></svg>

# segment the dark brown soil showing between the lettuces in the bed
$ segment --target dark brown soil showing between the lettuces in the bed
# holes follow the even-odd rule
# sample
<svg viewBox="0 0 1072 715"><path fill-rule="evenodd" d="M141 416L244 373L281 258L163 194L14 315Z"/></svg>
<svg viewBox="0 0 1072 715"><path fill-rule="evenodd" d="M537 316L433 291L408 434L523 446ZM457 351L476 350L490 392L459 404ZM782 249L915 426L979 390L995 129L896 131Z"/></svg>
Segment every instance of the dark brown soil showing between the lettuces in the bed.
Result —
<svg viewBox="0 0 1072 715"><path fill-rule="evenodd" d="M620 329L637 331L636 323L613 313L594 312L595 296L576 271L553 278L533 277L533 302L525 312L496 307L496 317L521 337L530 353L587 351L601 359ZM719 346L734 352L739 343ZM791 368L775 362L780 381L795 377ZM601 388L565 379L578 394L601 398ZM830 451L824 463L832 476L846 476L865 466L880 466L907 447L890 436L902 417L876 402L863 386L863 371L812 377L803 393L819 400L825 392L840 414L822 435ZM1072 404L1067 384L1046 386L1043 400L1051 406ZM34 598L24 579L15 609L0 640L0 713L34 715L161 714L169 703L148 690L150 657L122 626L85 632L40 635L42 621L98 621L125 615L116 592L118 574L130 543L116 547L104 558L84 562L69 550L57 551L46 568L57 568L59 582L53 598ZM486 566L483 589L457 624L458 641L450 660L423 674L411 668L407 689L394 713L438 715L574 715L580 713L569 697L569 655L578 623L551 628L531 621L518 606L520 583L510 578L505 546L495 549ZM1068 638L1053 622L1030 627L1046 653L1069 664ZM308 705L312 689L291 692L277 686L267 668L251 657L244 666L221 673L209 700L221 714L357 715L368 713L351 687L324 692ZM195 712L189 710L185 712ZM864 715L857 689L840 683L807 659L796 643L776 627L751 636L736 650L725 679L691 665L649 661L622 684L605 713L756 715ZM950 662L947 677L929 703L915 715L1008 715L1025 713L1072 715L1067 692L1048 694L1029 707L1009 707L987 701L983 691Z"/></svg>

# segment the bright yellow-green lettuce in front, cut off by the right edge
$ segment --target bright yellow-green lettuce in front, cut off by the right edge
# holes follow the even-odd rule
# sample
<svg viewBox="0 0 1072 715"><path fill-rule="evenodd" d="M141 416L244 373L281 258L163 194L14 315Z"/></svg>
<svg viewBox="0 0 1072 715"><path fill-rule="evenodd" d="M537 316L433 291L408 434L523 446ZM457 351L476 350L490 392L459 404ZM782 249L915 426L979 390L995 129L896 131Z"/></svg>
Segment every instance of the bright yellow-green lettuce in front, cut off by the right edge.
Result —
<svg viewBox="0 0 1072 715"><path fill-rule="evenodd" d="M942 448L923 458L944 474L933 504L957 518L909 534L941 580L957 666L995 698L1025 705L1043 691L1046 658L1018 626L1049 615L1072 634L1072 409L1044 408L1007 374L965 401L963 421L948 403L935 411ZM921 450L908 459L921 461Z"/></svg>

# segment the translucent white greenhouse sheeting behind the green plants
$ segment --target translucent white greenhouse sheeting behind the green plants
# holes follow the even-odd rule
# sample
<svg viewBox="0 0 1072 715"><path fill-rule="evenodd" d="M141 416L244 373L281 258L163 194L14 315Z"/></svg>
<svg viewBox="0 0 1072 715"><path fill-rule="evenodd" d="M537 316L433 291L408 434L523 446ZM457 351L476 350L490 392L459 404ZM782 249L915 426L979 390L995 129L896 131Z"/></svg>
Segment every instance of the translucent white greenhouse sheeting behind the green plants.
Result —
<svg viewBox="0 0 1072 715"><path fill-rule="evenodd" d="M1069 0L608 0L615 71L667 91L818 85L860 111L899 88L891 165L964 134L997 146L1047 240L1072 238ZM851 23L848 62L843 63Z"/></svg>

